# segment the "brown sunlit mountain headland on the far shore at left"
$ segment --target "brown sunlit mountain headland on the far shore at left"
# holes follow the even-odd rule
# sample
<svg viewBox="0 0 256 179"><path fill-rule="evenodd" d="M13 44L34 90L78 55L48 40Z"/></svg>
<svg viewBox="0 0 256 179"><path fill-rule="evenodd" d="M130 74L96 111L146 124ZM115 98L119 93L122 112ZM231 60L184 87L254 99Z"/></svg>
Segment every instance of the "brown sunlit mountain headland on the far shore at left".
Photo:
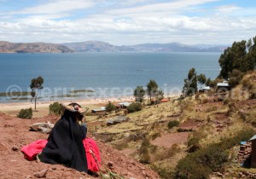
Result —
<svg viewBox="0 0 256 179"><path fill-rule="evenodd" d="M55 43L9 43L0 41L0 53L68 53L73 52Z"/></svg>

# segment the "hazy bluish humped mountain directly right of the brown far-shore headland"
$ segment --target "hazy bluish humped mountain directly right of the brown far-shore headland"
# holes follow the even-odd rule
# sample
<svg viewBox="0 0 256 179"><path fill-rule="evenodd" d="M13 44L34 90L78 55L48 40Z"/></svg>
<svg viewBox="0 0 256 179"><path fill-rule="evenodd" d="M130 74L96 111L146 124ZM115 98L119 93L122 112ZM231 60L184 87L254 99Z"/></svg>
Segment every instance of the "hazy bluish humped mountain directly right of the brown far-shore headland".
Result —
<svg viewBox="0 0 256 179"><path fill-rule="evenodd" d="M117 46L110 43L101 41L86 41L81 43L62 43L69 49L76 52L122 52L122 51L135 51L135 49L128 46Z"/></svg>

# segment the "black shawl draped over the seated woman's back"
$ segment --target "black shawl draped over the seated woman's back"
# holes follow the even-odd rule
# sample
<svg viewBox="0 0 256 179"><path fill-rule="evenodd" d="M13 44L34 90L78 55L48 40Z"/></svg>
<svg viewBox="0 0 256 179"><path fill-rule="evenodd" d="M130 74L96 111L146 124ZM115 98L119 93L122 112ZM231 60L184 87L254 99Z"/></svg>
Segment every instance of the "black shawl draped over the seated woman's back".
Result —
<svg viewBox="0 0 256 179"><path fill-rule="evenodd" d="M48 143L40 154L40 160L88 172L83 136L83 131L76 122L75 113L65 110L52 129Z"/></svg>

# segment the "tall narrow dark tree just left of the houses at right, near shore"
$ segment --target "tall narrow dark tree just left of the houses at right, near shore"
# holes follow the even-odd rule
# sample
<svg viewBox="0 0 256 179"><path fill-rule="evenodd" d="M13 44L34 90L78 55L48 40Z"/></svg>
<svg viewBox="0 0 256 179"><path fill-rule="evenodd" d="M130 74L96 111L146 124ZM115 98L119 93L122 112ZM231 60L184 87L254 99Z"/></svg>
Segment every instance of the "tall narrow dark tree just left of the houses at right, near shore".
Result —
<svg viewBox="0 0 256 179"><path fill-rule="evenodd" d="M184 79L183 95L194 95L197 92L197 75L195 68L191 68L188 73L188 78Z"/></svg>

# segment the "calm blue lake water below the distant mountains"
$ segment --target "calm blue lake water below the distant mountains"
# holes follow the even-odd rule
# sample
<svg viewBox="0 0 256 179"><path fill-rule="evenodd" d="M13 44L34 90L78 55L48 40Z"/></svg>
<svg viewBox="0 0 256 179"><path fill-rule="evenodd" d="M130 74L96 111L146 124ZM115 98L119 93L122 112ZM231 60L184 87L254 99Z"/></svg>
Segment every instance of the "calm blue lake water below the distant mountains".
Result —
<svg viewBox="0 0 256 179"><path fill-rule="evenodd" d="M152 78L166 93L182 90L183 78L196 72L216 78L220 53L0 54L0 92L28 91L32 78L44 78L44 94L95 90L94 96L131 95ZM114 88L114 89L113 89ZM47 91L48 90L48 91ZM125 90L125 92L124 92ZM57 91L57 92L56 92ZM3 97L0 101L6 101Z"/></svg>

